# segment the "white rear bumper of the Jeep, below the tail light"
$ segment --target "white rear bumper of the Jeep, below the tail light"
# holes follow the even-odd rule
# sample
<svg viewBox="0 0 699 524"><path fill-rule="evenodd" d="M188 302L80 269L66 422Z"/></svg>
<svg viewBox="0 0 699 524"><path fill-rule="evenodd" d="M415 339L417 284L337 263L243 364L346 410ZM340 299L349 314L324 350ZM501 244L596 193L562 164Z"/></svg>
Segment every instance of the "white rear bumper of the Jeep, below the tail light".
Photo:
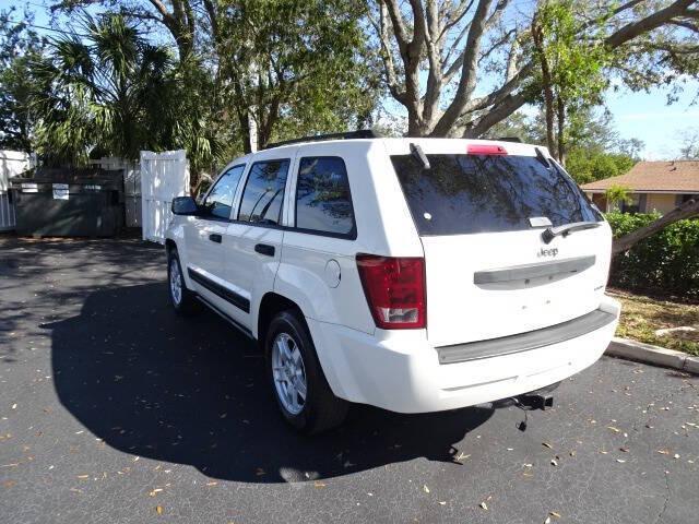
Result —
<svg viewBox="0 0 699 524"><path fill-rule="evenodd" d="M320 362L335 395L399 413L472 406L526 393L594 364L614 336L620 307L605 297L612 321L562 342L498 356L440 364L426 332L376 335L308 319Z"/></svg>

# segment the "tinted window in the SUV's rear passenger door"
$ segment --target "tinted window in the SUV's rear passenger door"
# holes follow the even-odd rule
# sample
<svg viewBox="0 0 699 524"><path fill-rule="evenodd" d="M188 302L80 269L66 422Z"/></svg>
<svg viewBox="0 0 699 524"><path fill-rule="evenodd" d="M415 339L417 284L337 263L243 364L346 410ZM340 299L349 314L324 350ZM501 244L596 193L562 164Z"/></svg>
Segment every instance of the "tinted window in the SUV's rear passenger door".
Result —
<svg viewBox="0 0 699 524"><path fill-rule="evenodd" d="M242 191L239 221L271 225L281 222L288 164L288 159L252 164Z"/></svg>

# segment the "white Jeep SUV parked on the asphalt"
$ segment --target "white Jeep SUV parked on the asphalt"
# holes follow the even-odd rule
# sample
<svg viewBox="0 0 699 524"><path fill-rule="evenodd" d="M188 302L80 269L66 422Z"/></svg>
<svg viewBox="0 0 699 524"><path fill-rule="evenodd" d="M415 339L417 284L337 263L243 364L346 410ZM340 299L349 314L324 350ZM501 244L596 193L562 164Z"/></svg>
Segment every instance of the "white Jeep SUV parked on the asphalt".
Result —
<svg viewBox="0 0 699 524"><path fill-rule="evenodd" d="M612 233L545 148L371 136L279 144L173 202L175 309L257 340L293 426L507 398L600 358Z"/></svg>

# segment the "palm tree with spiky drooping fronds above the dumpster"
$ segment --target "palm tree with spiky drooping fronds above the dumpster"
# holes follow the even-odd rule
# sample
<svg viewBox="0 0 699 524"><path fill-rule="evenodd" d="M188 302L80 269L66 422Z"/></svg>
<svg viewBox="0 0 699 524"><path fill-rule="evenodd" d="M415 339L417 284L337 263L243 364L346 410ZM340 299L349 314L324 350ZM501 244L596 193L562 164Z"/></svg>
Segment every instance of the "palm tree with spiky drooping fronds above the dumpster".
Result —
<svg viewBox="0 0 699 524"><path fill-rule="evenodd" d="M37 151L48 163L137 158L141 150L215 153L201 115L182 102L186 68L167 48L146 41L120 14L85 16L81 26L82 38L52 40L33 67L40 85L32 97Z"/></svg>

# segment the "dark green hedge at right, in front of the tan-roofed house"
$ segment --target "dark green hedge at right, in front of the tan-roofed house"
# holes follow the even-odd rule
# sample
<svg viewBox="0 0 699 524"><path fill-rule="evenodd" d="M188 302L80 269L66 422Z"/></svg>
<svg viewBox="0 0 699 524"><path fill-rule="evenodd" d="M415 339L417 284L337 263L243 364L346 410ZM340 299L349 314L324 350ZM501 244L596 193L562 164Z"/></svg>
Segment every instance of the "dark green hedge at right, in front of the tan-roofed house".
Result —
<svg viewBox="0 0 699 524"><path fill-rule="evenodd" d="M655 221L657 214L607 213L614 238ZM609 284L699 298L699 219L679 221L612 262Z"/></svg>

